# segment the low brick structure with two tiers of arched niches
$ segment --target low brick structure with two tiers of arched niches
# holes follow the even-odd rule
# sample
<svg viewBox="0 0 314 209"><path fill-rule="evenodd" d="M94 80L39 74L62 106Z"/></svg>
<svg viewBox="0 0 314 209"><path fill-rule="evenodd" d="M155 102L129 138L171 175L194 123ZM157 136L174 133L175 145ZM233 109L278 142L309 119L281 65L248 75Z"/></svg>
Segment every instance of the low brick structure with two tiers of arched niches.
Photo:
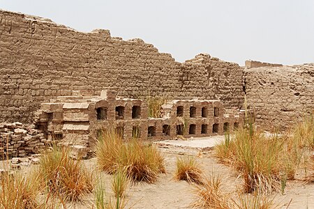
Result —
<svg viewBox="0 0 314 209"><path fill-rule="evenodd" d="M103 130L115 129L124 139L160 140L224 134L244 123L243 112L225 111L219 100L170 100L162 105L161 118L150 118L145 100L117 98L112 90L75 94L43 103L36 112L36 127L48 139L90 148Z"/></svg>

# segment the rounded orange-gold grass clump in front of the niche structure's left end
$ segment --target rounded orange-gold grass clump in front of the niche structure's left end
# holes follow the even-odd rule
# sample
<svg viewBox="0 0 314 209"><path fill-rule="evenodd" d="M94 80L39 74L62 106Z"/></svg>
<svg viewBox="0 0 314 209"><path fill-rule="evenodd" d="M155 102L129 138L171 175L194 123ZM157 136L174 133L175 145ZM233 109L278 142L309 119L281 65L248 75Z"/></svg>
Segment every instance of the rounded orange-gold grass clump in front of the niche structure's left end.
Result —
<svg viewBox="0 0 314 209"><path fill-rule="evenodd" d="M80 201L94 187L92 174L80 160L70 158L68 148L54 146L40 157L38 173L43 187L66 201Z"/></svg>

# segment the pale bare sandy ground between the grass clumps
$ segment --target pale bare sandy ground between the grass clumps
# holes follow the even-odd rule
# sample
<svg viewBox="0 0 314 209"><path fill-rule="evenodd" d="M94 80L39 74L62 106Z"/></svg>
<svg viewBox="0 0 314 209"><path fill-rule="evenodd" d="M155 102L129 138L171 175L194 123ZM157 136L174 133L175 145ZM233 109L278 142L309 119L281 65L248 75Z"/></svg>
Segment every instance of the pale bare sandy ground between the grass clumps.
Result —
<svg viewBox="0 0 314 209"><path fill-rule="evenodd" d="M200 163L204 173L209 176L211 173L220 175L223 178L223 192L236 196L236 191L241 189L243 180L234 169L220 164L214 157L214 150L187 148L186 146L162 146L159 148L165 157L165 168L167 173L160 174L158 181L154 184L137 183L128 189L126 208L193 208L192 203L197 199L195 187L185 181L173 179L176 169L177 157L193 155ZM112 176L96 170L96 158L84 160L87 169L94 171L96 176L101 176L105 191L112 196ZM300 174L300 176L302 176ZM314 208L314 184L304 184L304 181L292 180L287 182L285 194L275 194L274 199L279 208ZM70 208L93 208L94 195L86 196L87 203L78 203Z"/></svg>

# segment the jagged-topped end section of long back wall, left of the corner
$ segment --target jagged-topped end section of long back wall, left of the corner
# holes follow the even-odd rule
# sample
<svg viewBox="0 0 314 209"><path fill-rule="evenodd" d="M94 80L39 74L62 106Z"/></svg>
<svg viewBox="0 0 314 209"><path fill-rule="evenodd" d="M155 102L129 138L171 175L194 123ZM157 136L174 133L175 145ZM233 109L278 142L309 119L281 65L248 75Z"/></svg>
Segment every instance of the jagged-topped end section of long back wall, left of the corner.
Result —
<svg viewBox="0 0 314 209"><path fill-rule="evenodd" d="M184 98L186 92L192 91L198 98L222 101L226 109L243 106L244 72L237 63L220 61L208 54L198 54L182 66L181 98Z"/></svg>

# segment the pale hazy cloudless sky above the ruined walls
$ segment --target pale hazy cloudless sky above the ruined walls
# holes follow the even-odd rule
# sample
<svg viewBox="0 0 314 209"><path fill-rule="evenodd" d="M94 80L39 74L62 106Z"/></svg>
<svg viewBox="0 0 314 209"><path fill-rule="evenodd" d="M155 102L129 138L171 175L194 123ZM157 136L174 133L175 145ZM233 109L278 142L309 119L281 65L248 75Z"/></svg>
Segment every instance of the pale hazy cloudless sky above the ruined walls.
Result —
<svg viewBox="0 0 314 209"><path fill-rule="evenodd" d="M240 65L314 63L314 0L0 0L0 8L142 38L180 62L208 53Z"/></svg>

